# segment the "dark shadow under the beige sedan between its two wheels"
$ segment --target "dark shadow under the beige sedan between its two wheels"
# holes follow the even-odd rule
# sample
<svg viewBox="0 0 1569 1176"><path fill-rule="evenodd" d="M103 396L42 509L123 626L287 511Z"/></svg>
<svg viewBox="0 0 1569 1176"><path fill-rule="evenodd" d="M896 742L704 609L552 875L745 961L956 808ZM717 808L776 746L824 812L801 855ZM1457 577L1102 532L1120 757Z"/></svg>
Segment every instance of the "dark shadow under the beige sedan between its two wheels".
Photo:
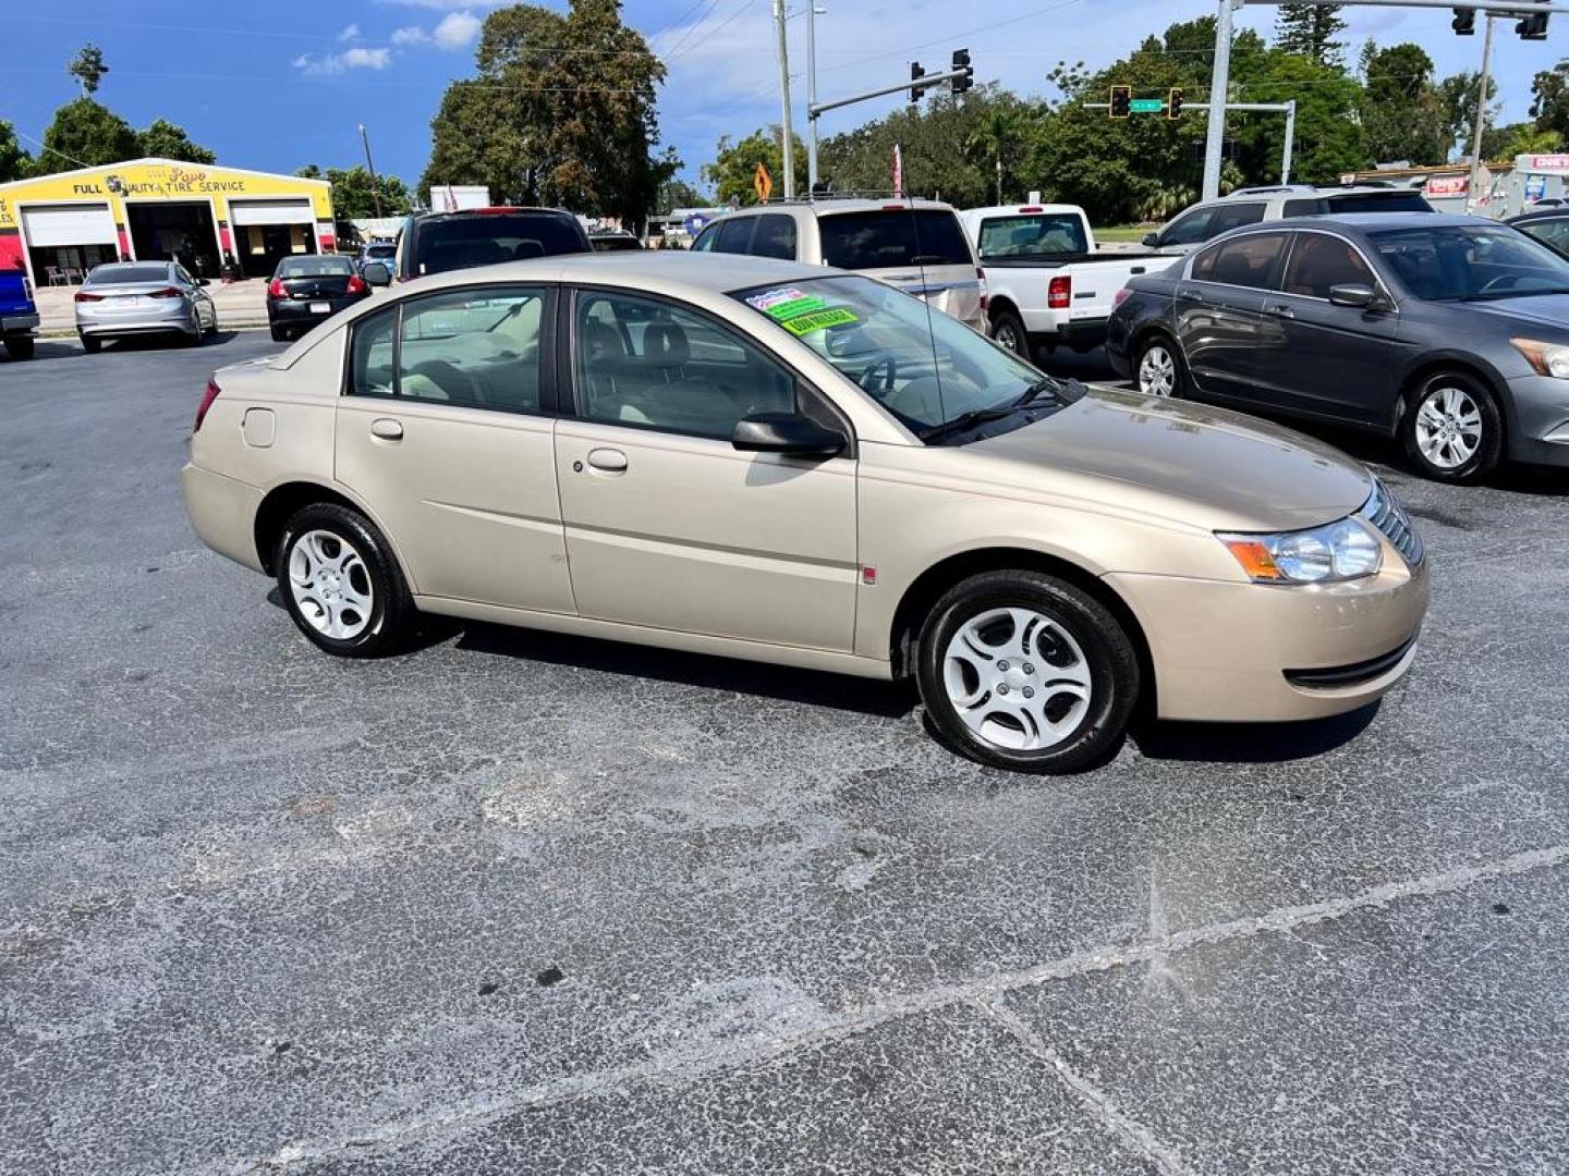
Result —
<svg viewBox="0 0 1569 1176"><path fill-rule="evenodd" d="M428 627L439 630L439 626ZM810 702L880 718L901 718L908 715L916 704L913 684L880 682L763 662L739 662L730 657L601 641L593 637L511 629L479 621L453 622L452 627L461 629L457 648L479 654L726 690L737 695L758 695L784 702Z"/></svg>

